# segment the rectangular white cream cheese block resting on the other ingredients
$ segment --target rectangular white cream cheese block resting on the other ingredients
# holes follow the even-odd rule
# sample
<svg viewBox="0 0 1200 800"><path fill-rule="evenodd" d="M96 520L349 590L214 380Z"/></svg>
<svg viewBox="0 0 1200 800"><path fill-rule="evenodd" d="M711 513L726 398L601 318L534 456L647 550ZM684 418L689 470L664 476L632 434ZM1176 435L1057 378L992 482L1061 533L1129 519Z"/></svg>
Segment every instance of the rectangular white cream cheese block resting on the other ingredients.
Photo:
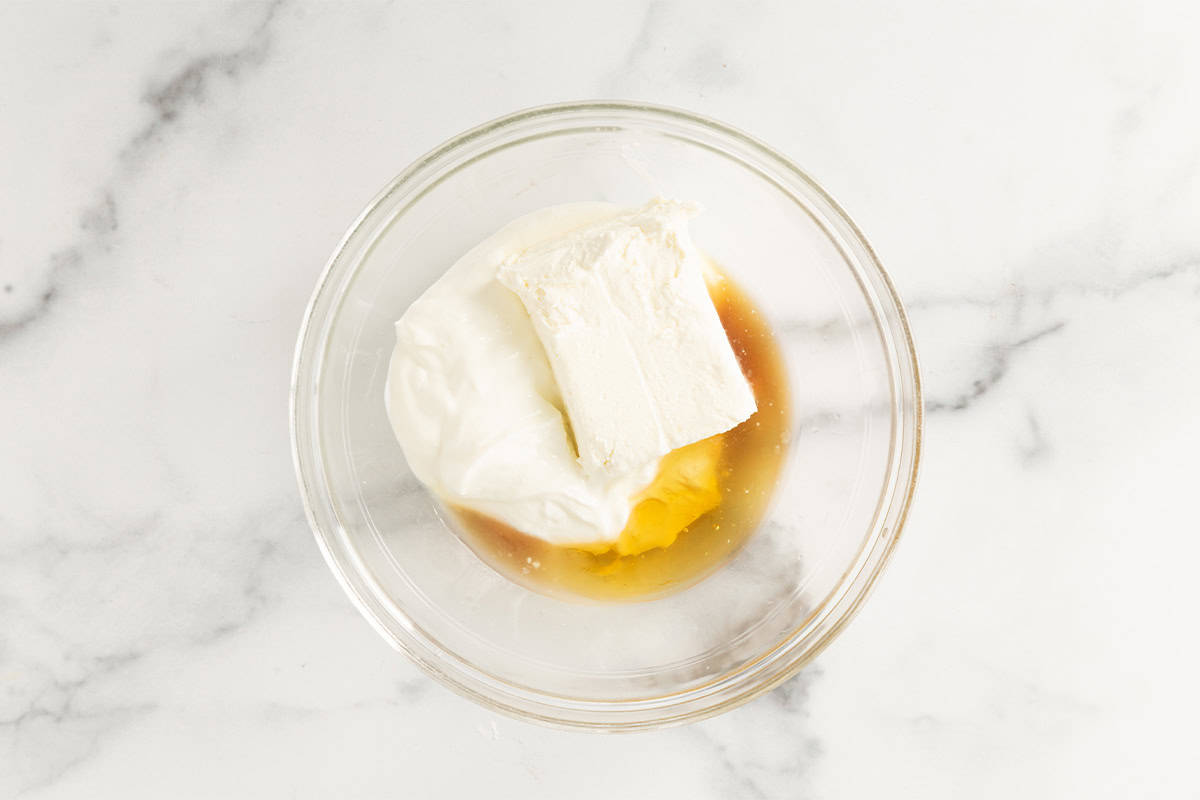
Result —
<svg viewBox="0 0 1200 800"><path fill-rule="evenodd" d="M688 234L695 211L652 200L497 275L529 312L590 475L628 474L756 410Z"/></svg>

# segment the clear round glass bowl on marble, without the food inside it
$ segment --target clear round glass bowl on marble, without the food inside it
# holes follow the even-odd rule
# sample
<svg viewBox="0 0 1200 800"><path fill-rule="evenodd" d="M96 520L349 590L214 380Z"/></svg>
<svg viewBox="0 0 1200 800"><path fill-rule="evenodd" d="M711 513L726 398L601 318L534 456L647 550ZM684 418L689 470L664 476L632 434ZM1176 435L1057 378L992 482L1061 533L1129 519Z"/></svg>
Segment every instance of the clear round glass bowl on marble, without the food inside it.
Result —
<svg viewBox="0 0 1200 800"><path fill-rule="evenodd" d="M791 380L790 452L760 529L708 578L643 602L544 596L484 564L409 471L383 403L392 323L526 212L658 194L700 201L696 242L767 314ZM317 284L292 385L308 519L376 630L491 709L606 730L727 710L820 652L895 546L920 431L908 324L850 217L756 139L632 103L518 112L392 180Z"/></svg>

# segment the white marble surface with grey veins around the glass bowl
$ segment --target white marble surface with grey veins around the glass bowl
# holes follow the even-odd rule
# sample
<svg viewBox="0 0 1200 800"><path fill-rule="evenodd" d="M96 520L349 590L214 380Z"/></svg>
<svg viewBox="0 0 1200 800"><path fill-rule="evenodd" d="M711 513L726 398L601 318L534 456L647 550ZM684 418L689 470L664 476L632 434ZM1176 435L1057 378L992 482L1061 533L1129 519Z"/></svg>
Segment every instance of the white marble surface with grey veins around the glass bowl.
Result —
<svg viewBox="0 0 1200 800"><path fill-rule="evenodd" d="M1183 0L0 6L0 796L1198 796L1198 41ZM929 401L846 633L635 736L392 652L286 425L377 188L586 97L718 116L830 187Z"/></svg>

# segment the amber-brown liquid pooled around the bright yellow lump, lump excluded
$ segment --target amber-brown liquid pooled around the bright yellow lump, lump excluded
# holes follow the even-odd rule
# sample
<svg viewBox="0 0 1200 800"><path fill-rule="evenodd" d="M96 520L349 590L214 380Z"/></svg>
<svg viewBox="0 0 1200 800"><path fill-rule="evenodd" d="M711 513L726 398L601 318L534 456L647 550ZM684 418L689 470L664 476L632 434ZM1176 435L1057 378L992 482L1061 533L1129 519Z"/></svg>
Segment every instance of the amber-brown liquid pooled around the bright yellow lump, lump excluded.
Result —
<svg viewBox="0 0 1200 800"><path fill-rule="evenodd" d="M731 281L709 287L725 335L758 410L725 434L720 504L670 547L594 554L527 536L491 517L452 509L463 540L498 572L535 591L592 600L644 600L682 589L724 564L758 527L788 440L787 379L767 320Z"/></svg>

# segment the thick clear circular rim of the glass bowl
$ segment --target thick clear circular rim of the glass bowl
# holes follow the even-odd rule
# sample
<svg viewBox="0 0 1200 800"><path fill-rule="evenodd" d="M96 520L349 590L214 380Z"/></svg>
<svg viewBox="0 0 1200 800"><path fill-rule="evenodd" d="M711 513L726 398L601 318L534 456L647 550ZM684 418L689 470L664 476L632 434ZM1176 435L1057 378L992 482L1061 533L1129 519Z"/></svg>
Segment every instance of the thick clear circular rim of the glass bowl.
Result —
<svg viewBox="0 0 1200 800"><path fill-rule="evenodd" d="M871 308L876 326L887 329L895 336L896 350L902 354L904 360L907 362L907 365L900 366L910 367L906 374L900 378L893 374L889 387L894 393L898 381L902 381L907 383L911 390L911 393L906 397L893 397L892 408L893 410L899 408L900 420L896 421L896 417L893 416L893 434L889 443L892 451L889 452L889 461L892 458L900 458L907 463L901 463L895 470L896 491L892 492L890 498L887 491L881 494L872 522L872 527L877 528L877 530L869 531L869 534L874 535L864 537L858 557L844 572L836 589L803 622L794 627L787 636L782 637L773 648L749 663L743 664L731 673L718 676L702 686L649 699L577 699L551 692L540 692L527 686L515 685L497 675L492 675L475 664L466 662L456 654L440 648L437 640L428 636L422 638L412 634L413 630L418 630L415 626L410 626L409 636L398 636L396 631L384 624L378 612L372 608L367 597L364 596L364 587L359 585L355 581L355 577L362 577L361 570L355 571L358 575L352 575L347 570L347 564L335 553L336 536L326 531L318 518L316 507L318 498L314 498L312 489L312 486L317 481L311 479L318 470L323 470L324 467L320 463L314 463L319 462L319 459L314 457L311 450L306 452L301 446L301 440L306 438L307 432L301 431L300 422L311 416L307 405L312 403L312 397L301 391L301 381L312 372L313 386L319 385L319 371L308 369L311 366L308 360L310 357L323 359L323 351L311 351L311 348L323 343L323 339L317 341L313 338L316 327L314 315L322 299L329 296L334 290L334 287L330 285L330 279L346 255L350 242L364 231L366 223L372 219L379 206L397 192L402 192L404 188L409 188L409 185L418 182L416 188L419 191L413 198L415 200L428 188L431 185L428 181L438 176L437 167L440 162L480 139L530 121L546 121L556 116L564 118L564 121L570 121L572 118L589 114L614 114L637 119L642 122L666 121L676 125L684 124L700 127L707 133L716 134L719 138L725 139L726 143L736 144L743 150L764 160L815 193L817 199L827 206L826 210L832 212L832 219L816 219L817 224L824 229L826 234L830 236L838 249L848 260L851 257L845 252L844 243L838 240L834 231L829 230L826 223L840 224L842 228L840 233L848 235L851 239L850 243L857 245L857 249L859 249L856 260L860 263L859 265L863 269L874 271L875 276L880 279L878 288L882 288L883 296L878 299L878 302L887 303L889 308L886 311L892 312L895 319L888 321L881 320L878 309L875 303L870 302L870 297L868 297L868 305ZM476 155L475 157L479 156ZM451 166L458 167L461 164ZM744 166L750 167L750 164ZM432 174L427 174L431 170ZM421 180L425 180L427 185L421 187L419 185ZM811 210L809 210L809 213L812 213ZM869 294L868 289L862 285L862 277L857 272L856 278L859 281L864 294ZM330 311L336 311L336 308L331 308ZM889 350L889 372L896 368L895 360L895 356ZM905 381L904 379L907 380ZM362 614L385 640L395 649L404 652L418 667L438 682L494 711L559 728L638 730L682 724L709 717L742 705L770 691L803 669L853 619L862 603L874 589L883 569L889 563L912 506L922 456L924 403L916 345L907 313L896 293L894 282L858 224L821 184L788 157L781 155L756 137L708 116L679 108L643 102L577 101L517 110L469 128L418 157L376 194L334 248L305 307L293 356L288 419L293 467L299 483L300 498L318 548L335 578L341 584L343 591L350 597L359 613ZM899 431L899 434L896 431ZM906 458L902 455L896 456L895 451L898 447L907 453ZM892 477L892 471L893 468L889 467L889 477ZM320 499L330 503L328 498ZM889 516L892 524L882 525ZM856 589L856 591L851 591L851 589ZM403 614L403 609L397 610L408 619L407 614ZM817 631L815 638L810 638L814 632L814 620L829 620L829 624ZM803 650L796 652L800 645L804 645ZM786 660L781 666L776 666L776 662L781 657L787 658L788 656L791 656L790 660Z"/></svg>

